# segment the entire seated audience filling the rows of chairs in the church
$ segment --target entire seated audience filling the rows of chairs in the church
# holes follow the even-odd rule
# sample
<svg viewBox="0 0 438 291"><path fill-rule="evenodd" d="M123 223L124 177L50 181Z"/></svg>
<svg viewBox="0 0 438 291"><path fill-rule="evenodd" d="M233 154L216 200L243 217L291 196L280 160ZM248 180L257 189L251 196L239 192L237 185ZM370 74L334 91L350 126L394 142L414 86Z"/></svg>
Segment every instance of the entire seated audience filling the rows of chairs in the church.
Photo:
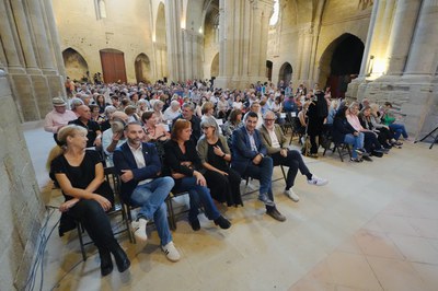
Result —
<svg viewBox="0 0 438 291"><path fill-rule="evenodd" d="M74 84L70 89L67 102L53 100L54 110L46 118L46 131L57 140L57 133L67 124L83 128L62 137L61 142L57 140L64 155L69 156L67 146L74 147L74 151L94 148L105 158L104 165L115 166L123 188L127 189L124 199L142 209L132 222L136 237L146 241L147 222L160 220L157 229L161 247L172 261L178 260L180 254L173 246L169 225L162 221L163 199L169 191L189 194L188 221L198 231L199 207L221 229L231 226L215 200L227 206L243 206L240 184L246 177L258 179L258 199L266 213L285 221L286 217L274 202L274 166L288 167L284 193L293 201L300 199L292 189L298 171L311 185L327 183L310 172L299 151L289 148L283 127L285 112L295 113L291 116L299 125L295 132L309 133L312 158L319 156L322 132L328 132L335 143L351 144L351 162L381 156L391 148L401 147L401 137L408 138L404 126L393 117L391 104L383 109L369 102L348 105L332 98L330 89L321 91L318 85L308 90L300 84L293 91L291 83L280 82L276 86L257 82L245 90L221 90L195 80L172 84ZM77 135L84 137L74 140ZM155 143L154 150L150 148L152 143ZM72 198L96 199L89 193L71 190L74 182L67 183L59 171L55 163L53 177L68 196L62 211L74 208L76 203L68 202ZM97 172L100 176L101 171ZM166 179L161 181L163 176ZM90 185L79 186L91 191L97 186L92 179ZM161 187L159 198L151 200L150 195L158 187ZM104 213L112 201L100 205L105 205ZM77 211L72 212L76 219L82 219ZM99 237L93 240L97 242ZM112 269L111 256L106 248L101 253L102 275L106 275ZM118 255L122 257L116 258L119 270L128 268L123 254Z"/></svg>

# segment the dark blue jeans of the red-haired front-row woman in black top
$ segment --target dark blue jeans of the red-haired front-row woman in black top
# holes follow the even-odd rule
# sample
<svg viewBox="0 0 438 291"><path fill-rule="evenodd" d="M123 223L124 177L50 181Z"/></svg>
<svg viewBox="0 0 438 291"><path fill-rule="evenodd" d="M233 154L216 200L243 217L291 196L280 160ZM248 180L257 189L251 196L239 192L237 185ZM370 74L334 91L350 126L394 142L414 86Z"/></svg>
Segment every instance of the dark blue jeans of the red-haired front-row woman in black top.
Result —
<svg viewBox="0 0 438 291"><path fill-rule="evenodd" d="M196 183L196 177L184 177L180 179L180 185L175 188L176 191L187 191L191 197L191 210L188 211L188 220L194 221L198 218L199 207L204 206L205 214L209 220L215 220L220 217L216 208L210 190L206 186L200 186Z"/></svg>

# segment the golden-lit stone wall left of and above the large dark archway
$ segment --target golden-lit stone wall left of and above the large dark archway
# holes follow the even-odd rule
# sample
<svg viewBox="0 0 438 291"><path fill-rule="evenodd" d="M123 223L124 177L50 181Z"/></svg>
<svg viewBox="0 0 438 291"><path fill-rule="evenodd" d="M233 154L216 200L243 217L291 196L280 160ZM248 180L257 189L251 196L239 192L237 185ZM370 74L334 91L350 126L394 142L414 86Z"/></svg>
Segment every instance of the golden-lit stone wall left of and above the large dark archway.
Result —
<svg viewBox="0 0 438 291"><path fill-rule="evenodd" d="M308 86L313 82L325 84L332 56L322 59L330 45L344 34L353 34L366 43L371 7L358 5L358 1L326 1L324 9L287 2L280 20L270 27L267 59L273 61L273 82L278 83L279 70L285 62L292 66L292 83ZM301 3L301 4L300 4ZM321 13L321 14L319 14ZM311 15L314 14L312 18ZM274 32L275 31L275 32ZM322 62L327 63L322 63Z"/></svg>

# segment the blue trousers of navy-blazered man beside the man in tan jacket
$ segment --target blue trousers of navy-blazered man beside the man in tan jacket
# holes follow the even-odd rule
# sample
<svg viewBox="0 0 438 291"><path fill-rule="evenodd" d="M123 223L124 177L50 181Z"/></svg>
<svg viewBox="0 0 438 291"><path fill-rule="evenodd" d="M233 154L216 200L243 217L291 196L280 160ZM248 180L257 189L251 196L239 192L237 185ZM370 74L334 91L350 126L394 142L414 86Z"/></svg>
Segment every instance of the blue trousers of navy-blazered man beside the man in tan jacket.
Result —
<svg viewBox="0 0 438 291"><path fill-rule="evenodd" d="M265 156L258 165L251 163L243 176L253 177L260 182L260 194L267 194L269 199L274 201L273 195L273 159Z"/></svg>

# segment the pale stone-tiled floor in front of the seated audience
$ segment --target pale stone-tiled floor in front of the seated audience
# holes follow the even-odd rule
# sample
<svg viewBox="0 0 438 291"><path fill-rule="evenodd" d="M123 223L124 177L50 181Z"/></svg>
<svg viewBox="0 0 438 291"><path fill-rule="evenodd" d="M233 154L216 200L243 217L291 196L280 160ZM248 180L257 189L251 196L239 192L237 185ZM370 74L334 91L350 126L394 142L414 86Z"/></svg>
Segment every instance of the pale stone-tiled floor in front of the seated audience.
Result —
<svg viewBox="0 0 438 291"><path fill-rule="evenodd" d="M51 137L41 127L25 136L44 186ZM178 263L166 260L151 230L147 245L120 236L132 265L101 278L95 248L89 246L82 261L76 233L58 237L55 231L42 290L438 290L438 146L428 147L406 143L372 163L306 159L330 183L311 186L299 175L295 203L281 194L284 181L275 182L286 222L264 214L254 194L244 196L244 208L220 209L233 223L227 231L201 216L201 230L193 232L182 217L173 233ZM49 205L59 202L53 191ZM48 230L58 219L56 211ZM39 270L37 286L41 279Z"/></svg>

